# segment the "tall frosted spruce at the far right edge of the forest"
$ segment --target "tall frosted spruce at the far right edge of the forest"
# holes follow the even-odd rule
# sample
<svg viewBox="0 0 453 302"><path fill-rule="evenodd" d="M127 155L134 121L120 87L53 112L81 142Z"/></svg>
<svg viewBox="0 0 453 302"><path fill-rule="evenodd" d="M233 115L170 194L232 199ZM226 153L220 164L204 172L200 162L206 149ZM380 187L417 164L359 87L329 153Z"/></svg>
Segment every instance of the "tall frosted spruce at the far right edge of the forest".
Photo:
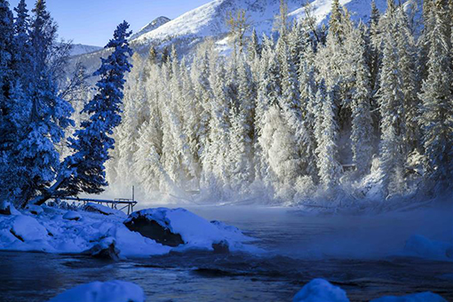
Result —
<svg viewBox="0 0 453 302"><path fill-rule="evenodd" d="M453 177L453 72L447 1L437 0L434 5L427 77L420 94L420 124L423 129L426 177L442 187L451 186Z"/></svg>

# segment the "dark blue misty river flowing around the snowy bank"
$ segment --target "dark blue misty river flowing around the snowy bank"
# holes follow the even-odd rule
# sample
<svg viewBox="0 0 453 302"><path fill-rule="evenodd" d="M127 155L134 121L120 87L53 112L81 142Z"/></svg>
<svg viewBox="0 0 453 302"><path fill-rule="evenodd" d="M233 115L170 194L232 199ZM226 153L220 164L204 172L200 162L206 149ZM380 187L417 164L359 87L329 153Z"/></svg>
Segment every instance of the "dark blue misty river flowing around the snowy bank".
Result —
<svg viewBox="0 0 453 302"><path fill-rule="evenodd" d="M0 300L45 301L81 283L116 279L136 282L149 301L290 301L306 282L324 278L346 290L351 301L427 290L453 301L453 262L401 254L410 234L450 240L449 215L341 218L283 209L189 210L240 227L266 252L192 251L108 262L2 251Z"/></svg>

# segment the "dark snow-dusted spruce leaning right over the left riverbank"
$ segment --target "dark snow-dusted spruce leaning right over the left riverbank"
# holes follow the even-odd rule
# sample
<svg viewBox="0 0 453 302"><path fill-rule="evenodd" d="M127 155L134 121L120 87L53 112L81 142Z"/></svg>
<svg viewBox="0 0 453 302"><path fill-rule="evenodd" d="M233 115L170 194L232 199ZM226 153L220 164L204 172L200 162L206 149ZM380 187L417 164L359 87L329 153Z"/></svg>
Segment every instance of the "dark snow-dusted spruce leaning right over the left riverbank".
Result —
<svg viewBox="0 0 453 302"><path fill-rule="evenodd" d="M107 59L101 59L102 65L94 73L100 77L96 84L98 93L83 107L83 113L90 117L83 121L75 137L69 139L75 153L64 160L52 187L36 196L33 203L39 205L51 197L81 192L99 194L107 186L104 165L108 151L115 144L115 139L111 138L113 130L121 123L124 76L131 70L128 60L132 51L127 40L131 32L128 28L126 21L118 25L114 38L106 45L114 51Z"/></svg>

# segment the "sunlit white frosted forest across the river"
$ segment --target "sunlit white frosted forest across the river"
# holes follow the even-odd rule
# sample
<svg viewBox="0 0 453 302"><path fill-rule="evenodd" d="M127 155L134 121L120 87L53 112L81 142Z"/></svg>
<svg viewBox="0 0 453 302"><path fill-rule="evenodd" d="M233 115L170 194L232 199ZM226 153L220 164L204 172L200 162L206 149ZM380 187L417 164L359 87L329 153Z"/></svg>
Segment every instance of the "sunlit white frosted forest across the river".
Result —
<svg viewBox="0 0 453 302"><path fill-rule="evenodd" d="M207 39L182 60L171 45L134 54L111 187L284 204L449 187L453 1L425 2L419 22L387 3L354 24L333 1L317 27L309 6L290 22L281 1L272 36L229 15L231 52Z"/></svg>

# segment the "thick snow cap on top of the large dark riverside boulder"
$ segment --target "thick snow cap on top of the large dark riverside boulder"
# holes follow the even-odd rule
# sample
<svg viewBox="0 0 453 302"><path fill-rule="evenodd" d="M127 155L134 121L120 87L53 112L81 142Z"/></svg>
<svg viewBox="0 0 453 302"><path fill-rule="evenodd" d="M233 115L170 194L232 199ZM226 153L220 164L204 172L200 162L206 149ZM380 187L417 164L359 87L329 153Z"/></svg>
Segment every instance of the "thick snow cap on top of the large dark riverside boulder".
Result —
<svg viewBox="0 0 453 302"><path fill-rule="evenodd" d="M219 221L210 222L185 209L156 208L133 212L124 223L145 217L155 220L161 227L168 228L173 234L180 234L186 243L177 249L208 249L212 244L227 242L230 250L244 250L242 242L251 238L236 228Z"/></svg>

